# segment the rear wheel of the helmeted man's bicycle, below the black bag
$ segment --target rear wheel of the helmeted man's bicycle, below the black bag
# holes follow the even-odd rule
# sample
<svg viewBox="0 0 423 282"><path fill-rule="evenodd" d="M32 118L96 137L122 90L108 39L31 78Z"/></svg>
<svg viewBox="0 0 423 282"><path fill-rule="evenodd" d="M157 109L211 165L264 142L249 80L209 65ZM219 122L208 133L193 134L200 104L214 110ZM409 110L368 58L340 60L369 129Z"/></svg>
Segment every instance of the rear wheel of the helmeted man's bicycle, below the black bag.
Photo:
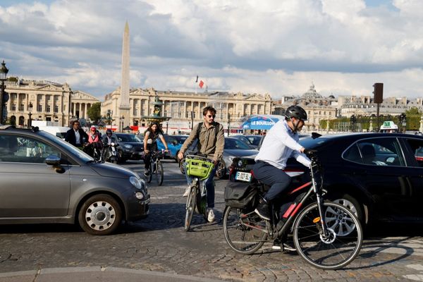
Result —
<svg viewBox="0 0 423 282"><path fill-rule="evenodd" d="M252 212L226 207L223 212L223 232L226 242L235 252L251 255L259 250L267 238L266 221Z"/></svg>

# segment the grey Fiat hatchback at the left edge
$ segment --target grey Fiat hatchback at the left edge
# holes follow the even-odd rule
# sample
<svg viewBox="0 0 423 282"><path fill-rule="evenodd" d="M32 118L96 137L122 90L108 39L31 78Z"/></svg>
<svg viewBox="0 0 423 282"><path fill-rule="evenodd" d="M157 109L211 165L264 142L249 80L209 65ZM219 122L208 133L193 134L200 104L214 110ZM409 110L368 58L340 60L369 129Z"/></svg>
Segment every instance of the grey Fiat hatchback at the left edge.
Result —
<svg viewBox="0 0 423 282"><path fill-rule="evenodd" d="M134 171L11 125L0 126L0 195L0 224L79 223L92 235L147 217L150 201Z"/></svg>

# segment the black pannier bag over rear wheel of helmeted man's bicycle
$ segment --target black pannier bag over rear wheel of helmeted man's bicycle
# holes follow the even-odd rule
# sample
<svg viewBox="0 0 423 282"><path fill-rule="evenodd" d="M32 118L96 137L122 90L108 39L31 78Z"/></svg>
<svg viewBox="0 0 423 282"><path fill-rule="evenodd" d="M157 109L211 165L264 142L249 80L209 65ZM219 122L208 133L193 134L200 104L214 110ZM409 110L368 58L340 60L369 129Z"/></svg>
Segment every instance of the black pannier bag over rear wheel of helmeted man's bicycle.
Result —
<svg viewBox="0 0 423 282"><path fill-rule="evenodd" d="M254 207L257 195L256 183L228 181L225 187L225 204L229 207L244 209Z"/></svg>

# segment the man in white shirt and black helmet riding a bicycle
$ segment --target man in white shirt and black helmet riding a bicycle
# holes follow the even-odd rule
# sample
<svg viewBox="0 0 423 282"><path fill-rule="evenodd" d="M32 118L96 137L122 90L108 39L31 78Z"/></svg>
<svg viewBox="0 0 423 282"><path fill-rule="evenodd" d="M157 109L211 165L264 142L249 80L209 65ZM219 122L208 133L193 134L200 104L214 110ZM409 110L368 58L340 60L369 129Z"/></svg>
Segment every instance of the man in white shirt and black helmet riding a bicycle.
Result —
<svg viewBox="0 0 423 282"><path fill-rule="evenodd" d="M309 167L311 161L304 154L305 148L299 143L298 132L307 121L307 113L300 106L289 106L285 112L285 120L278 121L264 137L259 154L255 157L253 167L255 178L271 188L260 201L255 212L262 219L270 220L269 204L288 188L290 176L283 171L286 161L294 157Z"/></svg>

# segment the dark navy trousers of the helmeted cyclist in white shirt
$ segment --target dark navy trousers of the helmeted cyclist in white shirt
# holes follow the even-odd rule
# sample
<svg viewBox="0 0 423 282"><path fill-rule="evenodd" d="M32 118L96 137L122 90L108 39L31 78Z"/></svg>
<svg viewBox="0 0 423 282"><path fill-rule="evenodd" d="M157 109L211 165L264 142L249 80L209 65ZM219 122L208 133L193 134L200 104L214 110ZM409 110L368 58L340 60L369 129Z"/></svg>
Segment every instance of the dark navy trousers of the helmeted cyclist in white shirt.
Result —
<svg viewBox="0 0 423 282"><path fill-rule="evenodd" d="M288 188L291 182L290 176L285 171L267 164L265 161L257 161L252 171L257 180L271 186L266 195L264 195L264 198L268 201L275 200Z"/></svg>

